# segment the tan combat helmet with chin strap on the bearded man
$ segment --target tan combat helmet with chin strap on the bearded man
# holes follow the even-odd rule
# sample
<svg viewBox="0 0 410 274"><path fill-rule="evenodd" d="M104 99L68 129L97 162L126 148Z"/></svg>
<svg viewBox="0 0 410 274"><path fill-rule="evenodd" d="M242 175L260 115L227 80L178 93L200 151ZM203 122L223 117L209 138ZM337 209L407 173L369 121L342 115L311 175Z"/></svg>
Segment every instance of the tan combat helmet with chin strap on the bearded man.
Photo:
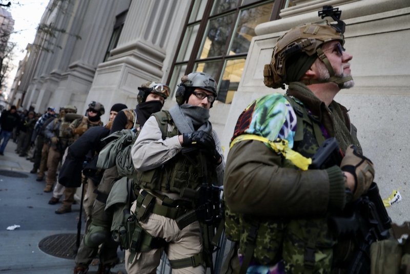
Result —
<svg viewBox="0 0 410 274"><path fill-rule="evenodd" d="M335 76L329 59L327 59L321 49L323 43L332 40L339 40L341 46L344 45L343 33L345 24L340 20L340 14L341 11L338 8L334 9L332 6L324 6L323 10L319 11L319 16L322 18L331 16L336 20L337 24L329 24L327 20L303 24L292 28L279 37L273 50L271 63L265 65L263 70L265 86L274 89L284 89L284 84L289 84L289 80L286 77L286 66L289 66L289 64L286 64L286 61L300 53L305 53L308 56L317 55L323 61L330 74L330 78L325 81L311 80L306 84L335 82L340 87L344 82L352 80L351 76Z"/></svg>

